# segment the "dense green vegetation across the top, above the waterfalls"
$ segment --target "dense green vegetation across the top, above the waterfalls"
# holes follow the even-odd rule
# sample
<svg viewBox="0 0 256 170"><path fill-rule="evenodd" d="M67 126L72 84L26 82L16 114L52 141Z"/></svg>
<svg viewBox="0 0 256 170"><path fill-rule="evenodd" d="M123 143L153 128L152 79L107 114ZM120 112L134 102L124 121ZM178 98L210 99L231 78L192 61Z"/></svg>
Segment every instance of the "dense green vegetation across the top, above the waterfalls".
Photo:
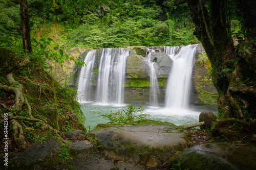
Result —
<svg viewBox="0 0 256 170"><path fill-rule="evenodd" d="M92 4L92 2L94 4ZM55 37L69 46L187 45L193 35L186 1L28 0L32 36ZM1 0L0 34L20 36L19 1ZM6 24L7 23L7 24ZM54 23L54 30L51 26ZM42 29L41 29L42 28ZM40 32L40 33L39 33Z"/></svg>

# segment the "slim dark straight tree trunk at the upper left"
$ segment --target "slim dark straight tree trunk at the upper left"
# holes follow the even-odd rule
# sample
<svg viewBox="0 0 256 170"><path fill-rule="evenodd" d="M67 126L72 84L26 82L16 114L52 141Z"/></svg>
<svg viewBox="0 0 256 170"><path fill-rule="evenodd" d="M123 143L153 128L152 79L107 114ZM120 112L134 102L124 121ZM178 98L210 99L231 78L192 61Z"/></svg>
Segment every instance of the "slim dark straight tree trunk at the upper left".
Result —
<svg viewBox="0 0 256 170"><path fill-rule="evenodd" d="M29 15L28 15L28 2L27 0L20 0L19 3L20 3L20 16L22 18L23 49L25 54L27 54L32 52Z"/></svg>

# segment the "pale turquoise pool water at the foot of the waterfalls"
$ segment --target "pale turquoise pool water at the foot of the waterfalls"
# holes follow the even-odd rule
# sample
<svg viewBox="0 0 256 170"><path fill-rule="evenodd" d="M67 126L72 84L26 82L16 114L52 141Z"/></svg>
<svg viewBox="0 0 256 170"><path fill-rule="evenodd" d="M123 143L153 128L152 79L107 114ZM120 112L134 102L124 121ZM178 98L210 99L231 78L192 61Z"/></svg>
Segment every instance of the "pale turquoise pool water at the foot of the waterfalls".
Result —
<svg viewBox="0 0 256 170"><path fill-rule="evenodd" d="M102 105L100 103L84 103L83 112L84 116L86 117L86 127L95 127L97 124L101 123L108 123L108 119L103 119L99 117L98 114L105 114L121 111L123 109L126 110L126 104L123 105ZM162 122L169 122L173 123L177 126L183 124L193 124L199 122L199 114L202 111L211 111L213 113L217 113L217 106L205 106L205 107L198 107L198 106L190 106L189 109L170 109L170 108L163 108L163 107L150 107L144 106L143 113L148 113L148 119L153 120L161 120Z"/></svg>

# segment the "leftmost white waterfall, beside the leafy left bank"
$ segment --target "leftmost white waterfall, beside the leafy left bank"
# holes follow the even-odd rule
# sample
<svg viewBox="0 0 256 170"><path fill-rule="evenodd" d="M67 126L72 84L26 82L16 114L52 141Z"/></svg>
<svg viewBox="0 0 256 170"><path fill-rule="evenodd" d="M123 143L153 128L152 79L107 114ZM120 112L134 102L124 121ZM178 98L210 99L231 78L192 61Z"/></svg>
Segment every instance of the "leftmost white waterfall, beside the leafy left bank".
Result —
<svg viewBox="0 0 256 170"><path fill-rule="evenodd" d="M91 50L84 58L84 63L86 66L81 68L79 79L78 79L78 99L81 102L92 101L92 83L91 79L93 76L93 66L95 61L96 50Z"/></svg>

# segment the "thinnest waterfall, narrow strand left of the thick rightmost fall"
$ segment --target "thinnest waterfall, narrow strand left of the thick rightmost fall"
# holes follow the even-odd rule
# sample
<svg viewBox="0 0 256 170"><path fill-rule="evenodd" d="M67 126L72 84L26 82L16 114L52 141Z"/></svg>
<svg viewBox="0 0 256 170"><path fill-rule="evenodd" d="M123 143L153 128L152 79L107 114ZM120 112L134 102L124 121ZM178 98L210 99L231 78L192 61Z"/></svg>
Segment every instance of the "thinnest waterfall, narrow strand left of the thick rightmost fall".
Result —
<svg viewBox="0 0 256 170"><path fill-rule="evenodd" d="M150 50L147 48L148 53L146 55L145 61L150 68L150 104L151 106L158 106L158 95L159 95L159 85L157 80L157 72L156 72L156 62L151 60L151 54L155 52L155 50Z"/></svg>

